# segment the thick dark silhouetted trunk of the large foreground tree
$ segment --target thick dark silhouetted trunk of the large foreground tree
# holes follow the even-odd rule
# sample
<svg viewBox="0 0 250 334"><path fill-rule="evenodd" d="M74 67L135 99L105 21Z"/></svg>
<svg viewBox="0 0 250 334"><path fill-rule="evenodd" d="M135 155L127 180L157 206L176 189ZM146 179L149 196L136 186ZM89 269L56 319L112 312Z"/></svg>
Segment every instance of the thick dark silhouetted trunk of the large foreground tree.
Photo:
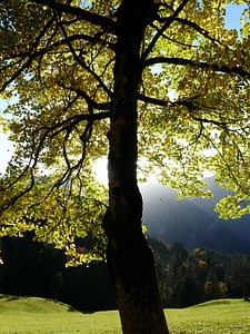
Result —
<svg viewBox="0 0 250 334"><path fill-rule="evenodd" d="M154 258L141 228L137 185L137 95L140 48L152 0L123 0L118 10L114 92L109 132L109 209L103 219L107 258L124 334L167 334Z"/></svg>

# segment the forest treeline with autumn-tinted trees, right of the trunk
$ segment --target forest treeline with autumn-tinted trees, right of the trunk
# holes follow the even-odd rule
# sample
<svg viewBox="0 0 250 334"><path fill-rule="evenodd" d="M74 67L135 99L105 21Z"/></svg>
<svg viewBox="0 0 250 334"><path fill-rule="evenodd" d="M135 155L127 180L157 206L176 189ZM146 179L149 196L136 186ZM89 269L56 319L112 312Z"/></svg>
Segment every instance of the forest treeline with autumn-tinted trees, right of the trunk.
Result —
<svg viewBox="0 0 250 334"><path fill-rule="evenodd" d="M206 248L189 252L180 242L169 246L149 238L149 243L156 254L164 307L188 307L227 297L249 299L250 256Z"/></svg>

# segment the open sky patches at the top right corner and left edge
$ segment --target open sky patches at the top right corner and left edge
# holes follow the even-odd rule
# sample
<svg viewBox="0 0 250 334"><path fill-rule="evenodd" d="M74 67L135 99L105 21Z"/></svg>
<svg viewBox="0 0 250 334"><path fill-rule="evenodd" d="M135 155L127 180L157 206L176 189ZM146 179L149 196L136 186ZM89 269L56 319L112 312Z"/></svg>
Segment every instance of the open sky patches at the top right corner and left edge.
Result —
<svg viewBox="0 0 250 334"><path fill-rule="evenodd" d="M240 30L240 16L247 6L227 7L226 28ZM0 115L6 108L6 104L0 100ZM7 135L0 134L0 173L4 173L8 160L11 158L13 151L12 144L8 141Z"/></svg>

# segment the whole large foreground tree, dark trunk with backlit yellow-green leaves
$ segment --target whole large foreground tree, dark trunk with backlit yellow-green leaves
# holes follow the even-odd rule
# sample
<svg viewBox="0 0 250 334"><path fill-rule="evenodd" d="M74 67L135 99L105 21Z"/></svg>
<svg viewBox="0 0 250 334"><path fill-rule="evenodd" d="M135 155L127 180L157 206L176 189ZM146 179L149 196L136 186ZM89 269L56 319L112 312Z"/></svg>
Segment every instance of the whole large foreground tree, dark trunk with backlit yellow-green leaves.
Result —
<svg viewBox="0 0 250 334"><path fill-rule="evenodd" d="M221 215L249 213L249 22L246 11L239 38L224 28L230 2L244 3L0 4L0 91L17 95L2 119L16 143L1 179L2 234L34 230L72 258L76 236L107 237L123 333L168 333L141 228L138 157L146 176L158 173L180 198L210 196L200 179L211 170L236 191ZM107 154L108 208L91 177Z"/></svg>

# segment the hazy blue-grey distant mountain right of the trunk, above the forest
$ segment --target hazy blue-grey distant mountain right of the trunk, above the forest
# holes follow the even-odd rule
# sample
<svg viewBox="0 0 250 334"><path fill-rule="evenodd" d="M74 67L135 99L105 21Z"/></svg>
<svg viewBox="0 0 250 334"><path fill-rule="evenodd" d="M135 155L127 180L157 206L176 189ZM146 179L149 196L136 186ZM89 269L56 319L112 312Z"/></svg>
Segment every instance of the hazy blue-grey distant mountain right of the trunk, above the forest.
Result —
<svg viewBox="0 0 250 334"><path fill-rule="evenodd" d="M143 196L143 224L150 236L166 243L182 242L187 248L209 247L219 252L250 254L250 215L223 220L216 213L216 203L228 193L206 178L213 198L176 200L178 190L157 183L140 185Z"/></svg>

